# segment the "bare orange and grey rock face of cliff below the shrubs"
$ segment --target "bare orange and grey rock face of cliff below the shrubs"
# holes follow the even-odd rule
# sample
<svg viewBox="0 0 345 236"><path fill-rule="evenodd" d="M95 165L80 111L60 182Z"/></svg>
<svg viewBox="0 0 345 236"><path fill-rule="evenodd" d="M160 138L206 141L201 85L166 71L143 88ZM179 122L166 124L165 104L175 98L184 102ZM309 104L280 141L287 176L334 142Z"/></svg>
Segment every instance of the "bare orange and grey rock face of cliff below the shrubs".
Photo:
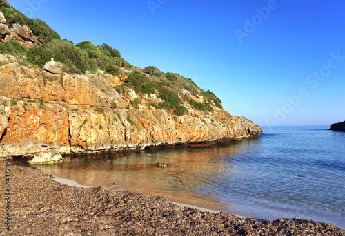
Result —
<svg viewBox="0 0 345 236"><path fill-rule="evenodd" d="M126 74L52 74L20 65L13 56L1 54L0 61L0 157L145 149L262 131L212 103L213 111L205 112L185 100L187 114L176 116L151 106L159 103L159 94L128 87L119 94L115 87Z"/></svg>

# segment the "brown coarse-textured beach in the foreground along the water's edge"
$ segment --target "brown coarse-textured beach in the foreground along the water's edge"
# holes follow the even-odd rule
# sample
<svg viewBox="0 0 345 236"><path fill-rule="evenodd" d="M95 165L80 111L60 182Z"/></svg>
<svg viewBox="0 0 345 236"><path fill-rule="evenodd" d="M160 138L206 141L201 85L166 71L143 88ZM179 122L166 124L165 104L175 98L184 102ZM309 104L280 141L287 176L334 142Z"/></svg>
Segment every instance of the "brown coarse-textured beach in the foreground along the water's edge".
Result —
<svg viewBox="0 0 345 236"><path fill-rule="evenodd" d="M164 197L61 185L10 159L0 160L0 181L0 235L345 235L304 219L259 222L177 206Z"/></svg>

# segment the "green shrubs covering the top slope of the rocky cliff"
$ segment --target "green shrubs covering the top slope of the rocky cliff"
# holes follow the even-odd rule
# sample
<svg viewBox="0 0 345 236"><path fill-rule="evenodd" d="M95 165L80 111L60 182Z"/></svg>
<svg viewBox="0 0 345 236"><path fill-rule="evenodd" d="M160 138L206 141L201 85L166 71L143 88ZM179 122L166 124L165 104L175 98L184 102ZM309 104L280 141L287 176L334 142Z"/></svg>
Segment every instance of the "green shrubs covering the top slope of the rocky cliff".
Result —
<svg viewBox="0 0 345 236"><path fill-rule="evenodd" d="M45 22L40 19L29 19L12 8L6 0L0 0L0 10L6 18L6 23L28 25L39 40L37 42L39 46L30 50L14 41L0 43L0 53L24 58L22 61L25 65L31 64L42 68L50 58L54 58L55 61L63 63L63 71L68 73L85 74L87 71L97 73L103 70L115 76L126 74L124 85L117 87L119 93L124 87L130 87L135 92L148 96L159 94L158 98L163 102L151 105L157 109L172 109L179 116L187 112L186 107L182 105L184 102L205 112L213 111L211 105L222 108L221 100L215 94L200 89L189 78L171 72L164 73L153 66L144 69L134 67L121 57L117 49L106 43L96 46L90 41L74 44L67 39L61 39L59 34ZM199 98L198 101L193 97Z"/></svg>

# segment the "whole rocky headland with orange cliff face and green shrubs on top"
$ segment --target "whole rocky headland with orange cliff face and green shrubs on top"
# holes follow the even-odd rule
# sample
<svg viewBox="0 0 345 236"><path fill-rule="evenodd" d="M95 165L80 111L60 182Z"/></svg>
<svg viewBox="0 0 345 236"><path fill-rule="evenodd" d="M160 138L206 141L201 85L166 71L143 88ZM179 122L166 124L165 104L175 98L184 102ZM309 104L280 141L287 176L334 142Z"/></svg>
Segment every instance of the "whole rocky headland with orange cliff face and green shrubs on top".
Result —
<svg viewBox="0 0 345 236"><path fill-rule="evenodd" d="M50 162L64 154L204 143L262 131L228 114L215 94L188 78L134 67L106 43L75 45L6 0L0 7L0 158Z"/></svg>

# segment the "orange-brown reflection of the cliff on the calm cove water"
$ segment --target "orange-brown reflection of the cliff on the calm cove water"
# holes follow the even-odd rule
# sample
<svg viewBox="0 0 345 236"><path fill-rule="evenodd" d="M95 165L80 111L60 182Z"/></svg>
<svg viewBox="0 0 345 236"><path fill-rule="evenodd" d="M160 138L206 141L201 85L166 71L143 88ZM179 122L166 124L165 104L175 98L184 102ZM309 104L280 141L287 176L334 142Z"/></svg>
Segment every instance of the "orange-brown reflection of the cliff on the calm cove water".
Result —
<svg viewBox="0 0 345 236"><path fill-rule="evenodd" d="M67 157L63 164L34 166L82 185L111 186L115 182L119 184L117 189L226 211L226 204L221 204L216 197L219 196L217 191L226 188L231 181L235 163L232 158L248 152L252 142L259 139L233 140L212 147ZM168 167L155 167L156 162Z"/></svg>

